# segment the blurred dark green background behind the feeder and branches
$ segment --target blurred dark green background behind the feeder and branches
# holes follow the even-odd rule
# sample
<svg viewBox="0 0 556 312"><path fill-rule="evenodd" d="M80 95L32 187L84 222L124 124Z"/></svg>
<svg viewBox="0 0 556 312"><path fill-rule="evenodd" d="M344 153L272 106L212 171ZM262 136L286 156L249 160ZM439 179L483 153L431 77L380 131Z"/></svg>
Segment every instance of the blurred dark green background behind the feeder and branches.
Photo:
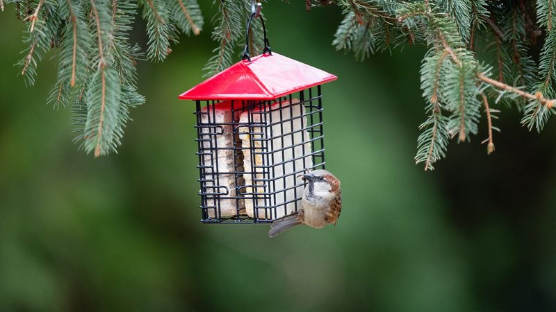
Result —
<svg viewBox="0 0 556 312"><path fill-rule="evenodd" d="M556 309L556 120L537 135L503 109L496 153L482 121L425 173L413 160L425 48L356 62L330 44L334 6L263 10L275 51L338 76L323 87L338 225L268 239L265 225L199 223L194 107L177 95L215 46L215 8L200 2L204 32L140 62L147 103L101 159L72 144L70 110L44 104L55 60L24 87L24 26L13 6L0 14L0 310Z"/></svg>

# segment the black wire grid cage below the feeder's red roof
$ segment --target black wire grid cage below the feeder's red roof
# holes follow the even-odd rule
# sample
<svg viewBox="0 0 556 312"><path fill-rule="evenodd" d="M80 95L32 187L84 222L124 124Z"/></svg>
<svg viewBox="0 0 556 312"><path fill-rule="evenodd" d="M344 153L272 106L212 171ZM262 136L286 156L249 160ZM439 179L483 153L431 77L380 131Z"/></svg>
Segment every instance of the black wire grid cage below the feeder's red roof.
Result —
<svg viewBox="0 0 556 312"><path fill-rule="evenodd" d="M294 99L298 102L292 103ZM270 223L272 218L265 218L265 216L275 218L277 215L291 213L291 210L297 211L302 196L300 185L304 185L302 180L297 179L297 175L307 170L325 168L320 85L273 101L231 101L229 122L216 120L216 105L218 101L196 101L195 128L197 128L199 157L198 181L201 187L199 191L201 221L236 224ZM304 107L304 113L293 116L297 108L303 112L301 106ZM247 114L247 122L240 122L239 115L242 113ZM274 119L278 116L278 120L272 120L273 116ZM303 119L306 119L305 126L303 126ZM284 133L286 124L290 125L291 132ZM278 128L279 133L275 133L275 129ZM231 146L218 146L218 135L224 132L233 135ZM305 133L308 134L308 139ZM239 139L240 135L248 135L250 148L243 147ZM288 137L291 142L286 141ZM277 141L280 143L279 146L275 146ZM285 144L288 146L284 146ZM306 154L306 144L311 144L311 153ZM302 155L295 155L295 149L299 147ZM219 168L218 164L218 156L222 153L227 155L225 154L227 152L224 152L227 150L231 150L231 157L233 157L231 171L223 171L224 168ZM286 157L288 150L291 152L289 158ZM243 168L244 153L248 153L251 157L250 168ZM311 157L312 165L307 164L308 157ZM257 164L256 159L260 159L261 164ZM278 173L279 171L281 174ZM233 190L221 184L224 175L228 179L233 175ZM245 184L244 175L251 177L251 184ZM288 185L288 180L290 184L292 181L294 184ZM222 204L231 201L235 202L235 213L231 216L222 216ZM253 218L247 216L245 212L247 201L250 201L253 207ZM289 204L293 204L293 209L290 211L288 211Z"/></svg>

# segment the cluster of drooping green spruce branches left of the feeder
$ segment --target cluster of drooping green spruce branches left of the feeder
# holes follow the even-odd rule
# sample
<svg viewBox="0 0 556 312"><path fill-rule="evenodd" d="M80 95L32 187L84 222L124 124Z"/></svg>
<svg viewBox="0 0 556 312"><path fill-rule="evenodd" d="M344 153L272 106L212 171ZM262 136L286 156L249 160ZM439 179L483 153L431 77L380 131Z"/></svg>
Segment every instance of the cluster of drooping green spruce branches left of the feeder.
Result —
<svg viewBox="0 0 556 312"><path fill-rule="evenodd" d="M26 24L23 58L17 62L27 85L49 51L58 74L48 102L72 107L80 147L95 157L120 146L129 112L145 102L137 91L142 53L129 33L138 4L147 21L147 57L164 60L179 33L198 34L203 18L195 0L8 0ZM3 8L3 1L0 3Z"/></svg>

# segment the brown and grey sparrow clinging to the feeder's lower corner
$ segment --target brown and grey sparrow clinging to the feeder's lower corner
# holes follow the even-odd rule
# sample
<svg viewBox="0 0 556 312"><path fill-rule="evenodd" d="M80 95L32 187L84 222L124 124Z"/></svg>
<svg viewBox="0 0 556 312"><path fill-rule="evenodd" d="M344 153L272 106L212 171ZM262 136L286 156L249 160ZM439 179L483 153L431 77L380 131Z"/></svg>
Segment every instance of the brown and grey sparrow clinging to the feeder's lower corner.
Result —
<svg viewBox="0 0 556 312"><path fill-rule="evenodd" d="M270 225L268 236L275 237L297 225L316 229L327 224L336 225L342 211L340 180L326 170L315 170L301 176L307 182L301 207L293 214L278 218Z"/></svg>

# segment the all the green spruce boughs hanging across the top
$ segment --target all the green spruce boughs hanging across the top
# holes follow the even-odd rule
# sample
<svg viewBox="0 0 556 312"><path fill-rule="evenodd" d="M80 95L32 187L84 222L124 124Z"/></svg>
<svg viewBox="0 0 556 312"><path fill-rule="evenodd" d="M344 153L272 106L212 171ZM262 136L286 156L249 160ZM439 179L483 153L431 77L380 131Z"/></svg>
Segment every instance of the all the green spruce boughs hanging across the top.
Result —
<svg viewBox="0 0 556 312"><path fill-rule="evenodd" d="M33 85L36 66L58 52L58 79L49 102L74 110L76 138L95 157L120 146L129 110L145 102L137 92L136 62L144 58L129 42L138 10L147 22L149 60L163 61L180 33L197 35L203 18L195 0L26 0L15 3L27 24L27 49L19 61ZM229 67L242 49L250 1L214 0L218 13L213 56L206 76ZM332 44L364 60L399 46L423 44L420 83L427 118L420 125L416 163L425 170L445 157L450 139L469 141L486 118L487 153L494 151L494 104L523 112L522 125L541 131L553 114L556 92L556 0L306 0L304 8L336 5L343 20ZM0 0L0 8L4 3ZM260 23L252 27L260 28ZM262 31L250 32L251 51L262 49ZM541 45L538 60L530 47ZM477 46L486 46L478 49ZM476 51L477 50L477 51Z"/></svg>

